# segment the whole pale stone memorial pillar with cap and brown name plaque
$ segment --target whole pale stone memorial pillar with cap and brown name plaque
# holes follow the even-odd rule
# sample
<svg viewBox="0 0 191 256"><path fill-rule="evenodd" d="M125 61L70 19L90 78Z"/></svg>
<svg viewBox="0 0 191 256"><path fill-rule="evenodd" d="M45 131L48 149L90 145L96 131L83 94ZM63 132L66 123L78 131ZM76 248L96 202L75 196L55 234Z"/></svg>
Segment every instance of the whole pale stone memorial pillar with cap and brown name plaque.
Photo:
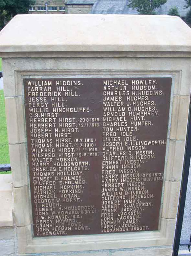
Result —
<svg viewBox="0 0 191 256"><path fill-rule="evenodd" d="M171 255L190 28L171 16L17 15L0 56L19 254Z"/></svg>

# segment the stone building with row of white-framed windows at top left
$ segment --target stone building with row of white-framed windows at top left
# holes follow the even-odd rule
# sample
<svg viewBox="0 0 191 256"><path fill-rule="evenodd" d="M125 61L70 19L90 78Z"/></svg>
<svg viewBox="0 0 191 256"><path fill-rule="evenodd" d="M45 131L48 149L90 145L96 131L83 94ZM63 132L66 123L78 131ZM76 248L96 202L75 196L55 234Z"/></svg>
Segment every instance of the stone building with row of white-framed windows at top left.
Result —
<svg viewBox="0 0 191 256"><path fill-rule="evenodd" d="M30 14L65 14L65 0L36 0Z"/></svg>

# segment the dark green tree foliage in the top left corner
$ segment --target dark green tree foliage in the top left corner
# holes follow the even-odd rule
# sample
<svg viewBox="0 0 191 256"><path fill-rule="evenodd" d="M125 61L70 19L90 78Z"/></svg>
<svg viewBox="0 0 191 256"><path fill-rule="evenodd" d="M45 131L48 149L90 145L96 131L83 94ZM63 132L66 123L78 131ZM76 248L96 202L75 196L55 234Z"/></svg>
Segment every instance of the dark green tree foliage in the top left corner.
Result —
<svg viewBox="0 0 191 256"><path fill-rule="evenodd" d="M0 0L0 29L17 14L29 12L34 0Z"/></svg>

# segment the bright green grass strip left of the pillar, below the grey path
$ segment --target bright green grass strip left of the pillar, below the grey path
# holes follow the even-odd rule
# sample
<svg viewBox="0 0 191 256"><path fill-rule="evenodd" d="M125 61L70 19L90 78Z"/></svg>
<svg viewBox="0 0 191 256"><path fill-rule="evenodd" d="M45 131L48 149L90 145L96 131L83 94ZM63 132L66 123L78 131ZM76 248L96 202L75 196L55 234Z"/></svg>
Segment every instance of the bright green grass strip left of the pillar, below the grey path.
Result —
<svg viewBox="0 0 191 256"><path fill-rule="evenodd" d="M0 90L0 164L10 163L3 90ZM5 172L8 173L8 172Z"/></svg>

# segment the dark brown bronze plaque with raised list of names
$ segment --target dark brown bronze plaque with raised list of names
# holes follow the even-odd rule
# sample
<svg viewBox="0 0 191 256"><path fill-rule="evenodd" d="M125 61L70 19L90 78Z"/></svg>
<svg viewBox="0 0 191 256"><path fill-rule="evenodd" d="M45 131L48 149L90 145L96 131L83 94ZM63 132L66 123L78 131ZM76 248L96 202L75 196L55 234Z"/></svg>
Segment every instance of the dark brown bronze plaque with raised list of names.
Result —
<svg viewBox="0 0 191 256"><path fill-rule="evenodd" d="M34 237L158 229L171 83L24 79Z"/></svg>

